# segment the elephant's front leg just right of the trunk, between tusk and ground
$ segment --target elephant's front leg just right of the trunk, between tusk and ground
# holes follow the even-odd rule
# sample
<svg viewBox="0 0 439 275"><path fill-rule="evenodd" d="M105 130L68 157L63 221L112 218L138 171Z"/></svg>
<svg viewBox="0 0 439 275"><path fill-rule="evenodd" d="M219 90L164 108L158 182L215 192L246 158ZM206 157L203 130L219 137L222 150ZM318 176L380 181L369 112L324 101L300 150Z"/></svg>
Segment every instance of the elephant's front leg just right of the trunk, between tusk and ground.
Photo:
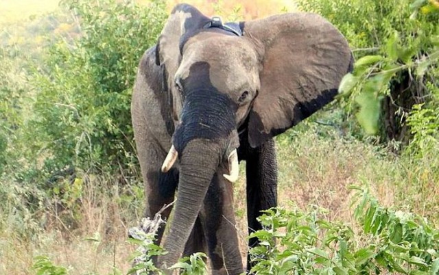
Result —
<svg viewBox="0 0 439 275"><path fill-rule="evenodd" d="M219 169L204 199L200 212L203 221L212 274L241 274L244 272L233 211L233 185Z"/></svg>

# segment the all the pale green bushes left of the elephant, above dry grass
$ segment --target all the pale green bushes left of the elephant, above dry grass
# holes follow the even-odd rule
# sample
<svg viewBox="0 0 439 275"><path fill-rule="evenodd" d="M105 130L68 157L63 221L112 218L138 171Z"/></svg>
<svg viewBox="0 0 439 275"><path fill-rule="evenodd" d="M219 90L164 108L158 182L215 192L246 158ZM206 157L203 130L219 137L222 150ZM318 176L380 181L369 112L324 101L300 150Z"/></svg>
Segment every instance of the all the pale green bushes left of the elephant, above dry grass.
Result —
<svg viewBox="0 0 439 275"><path fill-rule="evenodd" d="M58 204L75 224L96 177L125 186L122 203L143 198L130 96L140 57L163 28L165 2L60 7L19 29L6 25L0 36L0 228L16 224L25 235L47 223L38 209Z"/></svg>

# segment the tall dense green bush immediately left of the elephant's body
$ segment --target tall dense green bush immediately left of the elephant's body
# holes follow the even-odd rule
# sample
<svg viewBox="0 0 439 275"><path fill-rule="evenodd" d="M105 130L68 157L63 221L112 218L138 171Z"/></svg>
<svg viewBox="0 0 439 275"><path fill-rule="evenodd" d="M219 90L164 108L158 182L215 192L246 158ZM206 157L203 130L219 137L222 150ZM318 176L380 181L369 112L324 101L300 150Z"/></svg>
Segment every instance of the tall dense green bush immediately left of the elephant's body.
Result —
<svg viewBox="0 0 439 275"><path fill-rule="evenodd" d="M163 27L163 1L63 1L80 38L51 47L35 70L34 125L45 168L116 171L135 163L130 98L139 59Z"/></svg>

